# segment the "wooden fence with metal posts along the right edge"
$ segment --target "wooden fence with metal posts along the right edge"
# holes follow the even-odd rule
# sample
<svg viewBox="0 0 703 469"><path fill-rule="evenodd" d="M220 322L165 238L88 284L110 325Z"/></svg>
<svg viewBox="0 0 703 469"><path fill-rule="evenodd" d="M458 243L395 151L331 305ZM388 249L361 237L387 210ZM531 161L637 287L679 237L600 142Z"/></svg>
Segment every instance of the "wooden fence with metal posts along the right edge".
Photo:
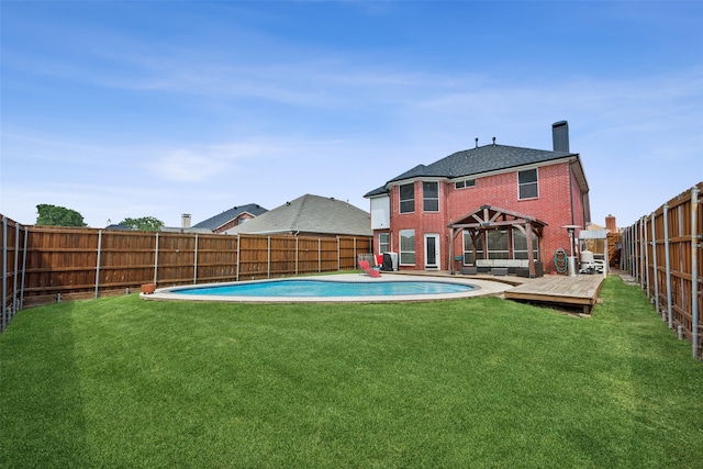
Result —
<svg viewBox="0 0 703 469"><path fill-rule="evenodd" d="M669 328L701 358L703 182L622 233L622 266L646 291Z"/></svg>

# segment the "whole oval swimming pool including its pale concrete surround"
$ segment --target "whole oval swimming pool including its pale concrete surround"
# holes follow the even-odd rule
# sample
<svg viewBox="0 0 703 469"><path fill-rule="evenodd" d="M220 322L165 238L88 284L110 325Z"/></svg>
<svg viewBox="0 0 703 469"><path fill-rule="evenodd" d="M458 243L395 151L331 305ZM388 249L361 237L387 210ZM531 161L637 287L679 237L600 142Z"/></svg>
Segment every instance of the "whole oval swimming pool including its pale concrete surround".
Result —
<svg viewBox="0 0 703 469"><path fill-rule="evenodd" d="M294 279L253 280L232 283L159 288L145 300L232 302L391 302L500 294L510 286L455 277L384 275L371 279L343 273Z"/></svg>

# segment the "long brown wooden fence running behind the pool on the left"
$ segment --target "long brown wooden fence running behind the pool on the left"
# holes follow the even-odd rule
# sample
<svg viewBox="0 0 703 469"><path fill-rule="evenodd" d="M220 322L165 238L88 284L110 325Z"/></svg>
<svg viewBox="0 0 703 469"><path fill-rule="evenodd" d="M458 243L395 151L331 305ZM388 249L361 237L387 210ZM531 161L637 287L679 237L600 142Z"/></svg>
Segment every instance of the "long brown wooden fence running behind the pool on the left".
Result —
<svg viewBox="0 0 703 469"><path fill-rule="evenodd" d="M357 268L368 236L260 236L21 226L2 216L2 330L25 305L160 287Z"/></svg>

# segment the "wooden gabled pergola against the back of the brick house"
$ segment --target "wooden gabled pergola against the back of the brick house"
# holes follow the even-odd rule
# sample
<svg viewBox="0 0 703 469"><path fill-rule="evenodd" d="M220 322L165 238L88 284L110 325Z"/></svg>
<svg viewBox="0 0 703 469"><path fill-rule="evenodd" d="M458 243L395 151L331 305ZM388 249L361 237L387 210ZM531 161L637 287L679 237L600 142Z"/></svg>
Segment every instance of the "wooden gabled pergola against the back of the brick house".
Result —
<svg viewBox="0 0 703 469"><path fill-rule="evenodd" d="M527 261L529 266L529 277L534 278L535 272L535 256L532 236L528 234L534 233L537 236L538 252L543 253L543 235L544 227L547 223L539 221L535 217L523 215L522 213L512 212L510 210L499 209L491 205L482 205L475 212L468 213L461 216L456 222L449 223L451 230L451 236L449 237L449 266L450 271L454 273L454 263L451 256L454 256L454 239L457 235L464 231L468 232L473 241L473 258L477 257L477 239L483 233L492 230L501 230L506 227L515 227L520 230L527 239ZM488 246L487 246L488 247ZM512 243L509 246L510 257L513 256ZM483 255L487 255L488 249L483 249Z"/></svg>

